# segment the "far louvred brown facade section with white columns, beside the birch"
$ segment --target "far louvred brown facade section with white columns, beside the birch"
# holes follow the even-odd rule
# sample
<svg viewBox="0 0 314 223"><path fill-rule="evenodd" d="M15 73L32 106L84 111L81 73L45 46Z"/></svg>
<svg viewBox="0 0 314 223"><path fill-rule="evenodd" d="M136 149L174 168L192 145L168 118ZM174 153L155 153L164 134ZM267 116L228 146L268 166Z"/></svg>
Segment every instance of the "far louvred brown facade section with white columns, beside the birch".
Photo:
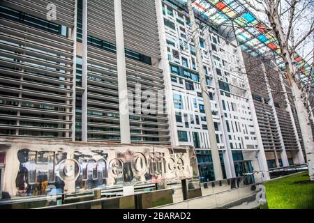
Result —
<svg viewBox="0 0 314 223"><path fill-rule="evenodd" d="M269 169L304 164L299 120L282 72L267 59L243 54Z"/></svg>

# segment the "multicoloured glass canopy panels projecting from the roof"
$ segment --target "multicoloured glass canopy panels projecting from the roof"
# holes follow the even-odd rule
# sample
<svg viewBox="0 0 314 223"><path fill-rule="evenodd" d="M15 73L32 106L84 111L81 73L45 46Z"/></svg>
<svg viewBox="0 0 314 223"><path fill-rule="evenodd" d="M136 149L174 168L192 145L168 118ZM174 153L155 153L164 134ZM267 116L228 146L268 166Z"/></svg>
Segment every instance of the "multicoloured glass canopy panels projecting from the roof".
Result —
<svg viewBox="0 0 314 223"><path fill-rule="evenodd" d="M175 1L186 4L186 0ZM285 67L274 32L239 0L194 0L193 6L211 26L232 26L241 49L248 54L275 56L278 66ZM294 55L294 59L299 77L308 77L311 66L298 54Z"/></svg>

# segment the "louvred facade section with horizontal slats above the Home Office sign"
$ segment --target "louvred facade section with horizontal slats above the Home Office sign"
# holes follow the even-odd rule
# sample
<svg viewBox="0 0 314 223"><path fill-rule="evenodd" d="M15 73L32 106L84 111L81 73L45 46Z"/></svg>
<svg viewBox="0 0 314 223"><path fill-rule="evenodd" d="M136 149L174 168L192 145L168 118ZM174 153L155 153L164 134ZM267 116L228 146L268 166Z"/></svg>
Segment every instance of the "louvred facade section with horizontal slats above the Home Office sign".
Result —
<svg viewBox="0 0 314 223"><path fill-rule="evenodd" d="M1 135L120 142L114 1L53 2L55 21L45 2L1 1ZM154 1L122 13L129 97L163 90ZM129 116L131 141L170 144L167 116L143 113Z"/></svg>

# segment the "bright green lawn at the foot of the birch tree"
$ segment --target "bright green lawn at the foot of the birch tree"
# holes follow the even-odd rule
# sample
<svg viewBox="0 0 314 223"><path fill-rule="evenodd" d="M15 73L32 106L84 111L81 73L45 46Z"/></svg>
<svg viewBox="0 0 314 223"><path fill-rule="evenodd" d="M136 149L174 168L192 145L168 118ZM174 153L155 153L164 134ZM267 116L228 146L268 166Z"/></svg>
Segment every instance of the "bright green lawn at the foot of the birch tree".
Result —
<svg viewBox="0 0 314 223"><path fill-rule="evenodd" d="M294 183L308 180L307 174L301 172L265 183L269 209L314 209L314 183Z"/></svg>

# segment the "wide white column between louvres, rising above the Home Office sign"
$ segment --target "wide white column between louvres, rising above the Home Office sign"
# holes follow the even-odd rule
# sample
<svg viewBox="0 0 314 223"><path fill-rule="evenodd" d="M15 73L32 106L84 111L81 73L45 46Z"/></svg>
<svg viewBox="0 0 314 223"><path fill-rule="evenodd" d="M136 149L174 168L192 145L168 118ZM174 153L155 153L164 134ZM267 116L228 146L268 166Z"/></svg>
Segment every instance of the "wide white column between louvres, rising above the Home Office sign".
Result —
<svg viewBox="0 0 314 223"><path fill-rule="evenodd" d="M114 22L116 28L116 45L117 45L117 71L118 71L121 143L130 144L128 85L126 79L126 52L124 49L124 26L122 20L121 0L114 0Z"/></svg>

